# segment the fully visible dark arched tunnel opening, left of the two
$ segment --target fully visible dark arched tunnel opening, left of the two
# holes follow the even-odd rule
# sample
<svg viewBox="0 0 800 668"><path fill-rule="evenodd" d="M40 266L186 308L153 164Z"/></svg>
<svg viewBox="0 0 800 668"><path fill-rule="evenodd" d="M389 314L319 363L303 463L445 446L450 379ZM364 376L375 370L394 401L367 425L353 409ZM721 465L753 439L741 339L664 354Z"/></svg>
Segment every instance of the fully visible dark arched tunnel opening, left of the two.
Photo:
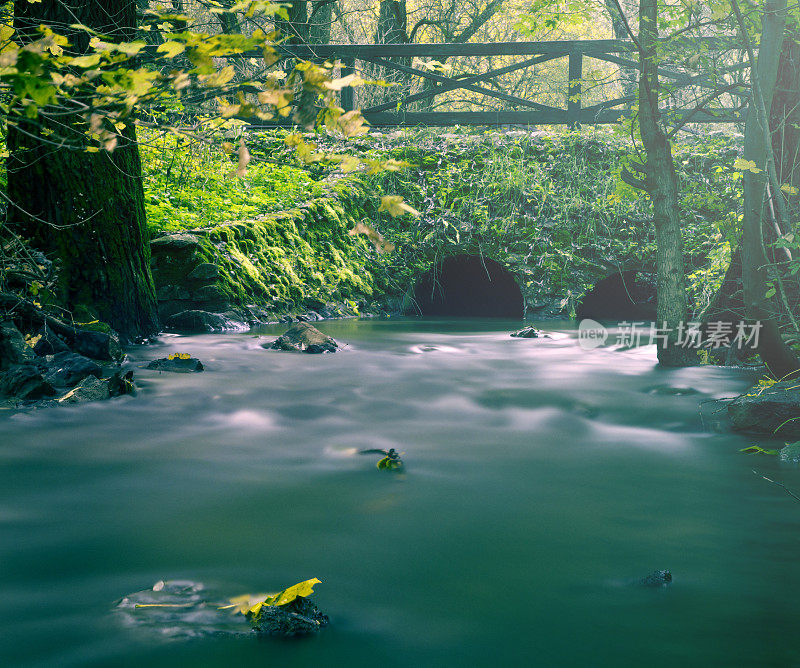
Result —
<svg viewBox="0 0 800 668"><path fill-rule="evenodd" d="M475 255L445 258L414 289L421 315L522 318L525 301L513 274Z"/></svg>

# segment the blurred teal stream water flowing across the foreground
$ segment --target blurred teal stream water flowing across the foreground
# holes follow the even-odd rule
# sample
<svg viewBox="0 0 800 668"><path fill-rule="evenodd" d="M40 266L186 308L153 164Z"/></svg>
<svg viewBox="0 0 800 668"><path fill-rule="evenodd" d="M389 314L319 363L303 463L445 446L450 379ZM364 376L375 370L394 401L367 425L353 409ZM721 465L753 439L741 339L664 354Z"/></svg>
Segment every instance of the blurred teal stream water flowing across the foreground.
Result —
<svg viewBox="0 0 800 668"><path fill-rule="evenodd" d="M206 371L0 416L0 664L800 664L800 503L753 469L800 472L739 453L713 401L753 375L518 325L320 323L335 355L259 347L285 327L164 336L131 365ZM211 605L312 577L314 638ZM162 580L209 605L133 607Z"/></svg>

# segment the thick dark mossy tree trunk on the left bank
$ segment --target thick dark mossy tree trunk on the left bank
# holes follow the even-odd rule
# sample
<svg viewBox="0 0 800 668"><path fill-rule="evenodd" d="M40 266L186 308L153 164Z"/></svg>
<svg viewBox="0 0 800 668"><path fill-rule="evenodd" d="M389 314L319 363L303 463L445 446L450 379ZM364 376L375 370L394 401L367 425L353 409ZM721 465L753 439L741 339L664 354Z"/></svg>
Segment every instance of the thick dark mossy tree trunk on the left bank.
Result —
<svg viewBox="0 0 800 668"><path fill-rule="evenodd" d="M87 25L112 40L132 39L134 0L61 2L17 0L18 39L35 36L40 24ZM84 31L68 35L72 52L85 52ZM44 121L9 116L7 160L9 221L61 262L59 297L70 309L84 306L126 339L158 331L150 247L145 221L141 163L131 123L113 153L87 153L86 125L60 115L59 147L39 133ZM20 125L16 128L14 123Z"/></svg>

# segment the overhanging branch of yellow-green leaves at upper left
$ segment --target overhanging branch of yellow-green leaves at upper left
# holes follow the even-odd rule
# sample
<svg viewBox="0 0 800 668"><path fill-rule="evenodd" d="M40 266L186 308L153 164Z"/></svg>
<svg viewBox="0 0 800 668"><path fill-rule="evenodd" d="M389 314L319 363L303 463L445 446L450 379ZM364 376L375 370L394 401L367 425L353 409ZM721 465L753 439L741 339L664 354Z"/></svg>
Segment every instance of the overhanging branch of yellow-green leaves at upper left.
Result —
<svg viewBox="0 0 800 668"><path fill-rule="evenodd" d="M260 1L220 4L210 11L287 16L284 5ZM241 178L251 160L242 130L251 121L291 117L306 131L354 137L368 126L359 111L342 109L336 94L346 87L388 85L357 74L336 78L337 62L298 61L284 72L279 67L287 61L279 52L277 31L209 34L194 30L191 17L183 14L149 11L148 16L146 27L159 32L157 45L115 41L80 23L58 31L39 25L24 33L0 27L0 109L7 123L53 146L88 153L114 151L129 125L211 144L221 137L222 150L236 160L230 176ZM257 57L270 71L243 79L232 64L220 64L243 55ZM188 108L191 124L182 125L179 119ZM64 123L65 114L77 122ZM236 149L226 138L232 133L239 137ZM318 151L299 133L286 142L303 164L324 161L342 172L371 174L406 166Z"/></svg>

